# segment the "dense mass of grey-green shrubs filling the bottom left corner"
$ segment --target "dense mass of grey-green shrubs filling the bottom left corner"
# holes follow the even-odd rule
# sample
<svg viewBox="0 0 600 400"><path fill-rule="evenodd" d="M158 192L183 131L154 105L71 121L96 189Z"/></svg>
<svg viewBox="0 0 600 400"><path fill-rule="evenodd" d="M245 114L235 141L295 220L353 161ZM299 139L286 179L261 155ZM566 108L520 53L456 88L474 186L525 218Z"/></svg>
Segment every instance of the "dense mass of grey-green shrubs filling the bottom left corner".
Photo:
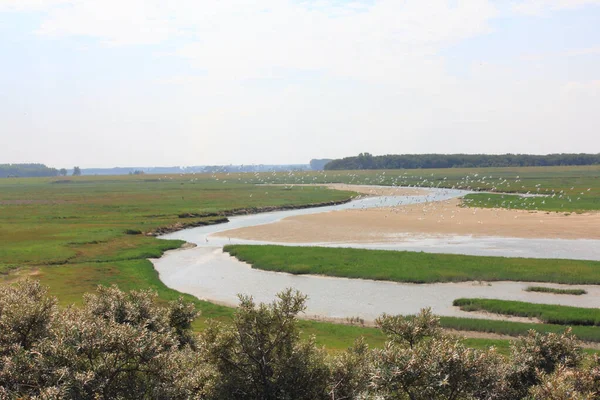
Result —
<svg viewBox="0 0 600 400"><path fill-rule="evenodd" d="M0 393L202 397L210 386L210 369L199 363L189 336L181 332L195 312L183 307L188 314L181 317L181 301L161 307L155 300L149 291L126 294L99 287L86 295L83 307L58 312L56 300L38 283L1 287Z"/></svg>

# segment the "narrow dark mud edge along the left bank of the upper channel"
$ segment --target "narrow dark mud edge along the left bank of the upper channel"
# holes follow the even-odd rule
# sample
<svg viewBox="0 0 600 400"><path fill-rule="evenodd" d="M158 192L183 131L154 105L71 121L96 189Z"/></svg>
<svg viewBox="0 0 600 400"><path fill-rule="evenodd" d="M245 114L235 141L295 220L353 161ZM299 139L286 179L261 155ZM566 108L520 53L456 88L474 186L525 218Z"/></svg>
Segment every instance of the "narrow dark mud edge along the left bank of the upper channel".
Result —
<svg viewBox="0 0 600 400"><path fill-rule="evenodd" d="M234 210L221 211L218 213L183 213L179 214L181 219L191 218L212 218L208 220L200 221L189 221L189 222L177 222L176 224L156 228L153 231L146 233L146 236L160 236L166 235L167 233L177 232L182 229L196 228L198 226L224 224L229 222L228 217L234 217L236 215L250 215L260 214L273 211L287 211L287 210L300 210L305 208L317 208L327 206L337 206L340 204L346 204L352 201L352 198L339 201L327 201L324 203L312 203L312 204L301 204L301 205L284 205L284 206L267 206L267 207L250 207L250 208L238 208Z"/></svg>

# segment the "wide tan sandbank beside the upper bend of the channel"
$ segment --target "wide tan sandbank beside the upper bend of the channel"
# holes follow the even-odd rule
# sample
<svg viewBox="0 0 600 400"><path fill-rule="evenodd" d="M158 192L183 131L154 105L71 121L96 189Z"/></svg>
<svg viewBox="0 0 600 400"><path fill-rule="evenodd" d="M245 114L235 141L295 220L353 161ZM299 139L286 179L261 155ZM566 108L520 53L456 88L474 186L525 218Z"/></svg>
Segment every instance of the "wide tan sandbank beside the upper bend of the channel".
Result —
<svg viewBox="0 0 600 400"><path fill-rule="evenodd" d="M348 190L356 189L350 186ZM452 199L294 216L216 235L280 243L389 243L411 236L449 235L600 239L600 213L471 208L461 207L460 202Z"/></svg>

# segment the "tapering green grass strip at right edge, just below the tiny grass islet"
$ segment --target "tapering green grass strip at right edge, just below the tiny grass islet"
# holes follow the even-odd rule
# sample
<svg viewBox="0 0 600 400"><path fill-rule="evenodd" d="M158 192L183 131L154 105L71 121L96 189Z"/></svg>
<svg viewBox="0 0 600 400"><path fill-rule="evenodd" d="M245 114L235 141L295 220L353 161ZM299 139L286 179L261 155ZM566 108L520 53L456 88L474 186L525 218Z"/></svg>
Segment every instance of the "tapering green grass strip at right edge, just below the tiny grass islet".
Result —
<svg viewBox="0 0 600 400"><path fill-rule="evenodd" d="M537 318L548 324L600 326L600 309L525 303L495 299L456 299L463 311L486 311L499 315Z"/></svg>

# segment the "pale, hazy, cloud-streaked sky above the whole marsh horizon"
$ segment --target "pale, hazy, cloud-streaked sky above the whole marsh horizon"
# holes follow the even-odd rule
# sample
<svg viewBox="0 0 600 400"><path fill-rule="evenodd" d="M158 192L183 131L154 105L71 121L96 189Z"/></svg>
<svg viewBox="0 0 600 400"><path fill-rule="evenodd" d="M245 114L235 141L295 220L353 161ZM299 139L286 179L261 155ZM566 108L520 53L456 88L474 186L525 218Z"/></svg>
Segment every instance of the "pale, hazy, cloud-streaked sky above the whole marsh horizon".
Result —
<svg viewBox="0 0 600 400"><path fill-rule="evenodd" d="M600 0L0 0L0 163L600 152Z"/></svg>

